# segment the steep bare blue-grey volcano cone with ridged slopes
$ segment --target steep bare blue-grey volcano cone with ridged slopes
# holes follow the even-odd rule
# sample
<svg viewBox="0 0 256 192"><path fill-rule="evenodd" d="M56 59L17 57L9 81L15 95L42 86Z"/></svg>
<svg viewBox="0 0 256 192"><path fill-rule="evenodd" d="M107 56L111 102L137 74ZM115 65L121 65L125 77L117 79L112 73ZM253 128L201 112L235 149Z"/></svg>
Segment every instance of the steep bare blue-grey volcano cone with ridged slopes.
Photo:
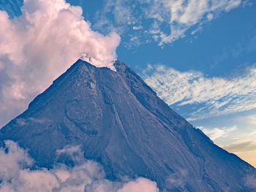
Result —
<svg viewBox="0 0 256 192"><path fill-rule="evenodd" d="M78 60L0 130L37 166L71 164L56 155L80 145L108 179L147 177L163 191L253 191L245 185L255 168L211 142L170 109L132 69L117 72Z"/></svg>

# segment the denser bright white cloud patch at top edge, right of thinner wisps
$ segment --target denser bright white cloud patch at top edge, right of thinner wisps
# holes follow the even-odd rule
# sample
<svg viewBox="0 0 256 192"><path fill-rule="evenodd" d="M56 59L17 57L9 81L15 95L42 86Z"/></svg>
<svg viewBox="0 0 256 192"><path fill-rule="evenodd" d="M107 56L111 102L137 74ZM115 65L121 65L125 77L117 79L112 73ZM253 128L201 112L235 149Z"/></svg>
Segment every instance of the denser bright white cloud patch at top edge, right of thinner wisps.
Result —
<svg viewBox="0 0 256 192"><path fill-rule="evenodd" d="M160 32L160 44L173 42L183 37L184 32L190 27L195 26L195 24L203 24L207 20L212 20L214 17L217 17L220 12L228 12L230 9L238 7L238 5L241 4L241 0L162 1L162 4L165 10L169 11L170 34Z"/></svg>

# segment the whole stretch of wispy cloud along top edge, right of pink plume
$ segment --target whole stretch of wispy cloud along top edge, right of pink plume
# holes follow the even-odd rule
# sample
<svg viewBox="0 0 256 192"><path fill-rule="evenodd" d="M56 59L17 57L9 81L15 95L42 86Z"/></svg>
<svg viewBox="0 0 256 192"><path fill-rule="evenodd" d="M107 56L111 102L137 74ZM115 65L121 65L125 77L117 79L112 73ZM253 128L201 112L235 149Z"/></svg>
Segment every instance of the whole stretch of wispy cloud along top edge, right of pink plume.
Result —
<svg viewBox="0 0 256 192"><path fill-rule="evenodd" d="M149 23L143 28L148 37L159 45L184 37L189 28L201 28L222 12L229 12L241 5L241 0L111 0L98 12L97 28L116 28L120 33ZM108 20L112 15L114 20ZM195 30L194 30L195 31ZM138 34L136 34L138 36Z"/></svg>

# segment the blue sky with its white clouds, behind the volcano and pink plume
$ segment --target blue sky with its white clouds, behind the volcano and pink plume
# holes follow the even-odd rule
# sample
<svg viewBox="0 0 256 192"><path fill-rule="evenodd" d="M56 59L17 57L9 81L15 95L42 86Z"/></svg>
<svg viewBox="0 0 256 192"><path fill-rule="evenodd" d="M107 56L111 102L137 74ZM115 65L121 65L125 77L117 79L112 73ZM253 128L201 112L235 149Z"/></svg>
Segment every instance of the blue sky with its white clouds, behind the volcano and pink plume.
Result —
<svg viewBox="0 0 256 192"><path fill-rule="evenodd" d="M256 166L255 1L68 2L82 7L92 31L114 31L121 37L117 59L140 74L173 110L217 145ZM13 19L22 15L21 5L1 1L0 9ZM0 54L0 61L6 57ZM20 96L23 105L8 118L38 92Z"/></svg>

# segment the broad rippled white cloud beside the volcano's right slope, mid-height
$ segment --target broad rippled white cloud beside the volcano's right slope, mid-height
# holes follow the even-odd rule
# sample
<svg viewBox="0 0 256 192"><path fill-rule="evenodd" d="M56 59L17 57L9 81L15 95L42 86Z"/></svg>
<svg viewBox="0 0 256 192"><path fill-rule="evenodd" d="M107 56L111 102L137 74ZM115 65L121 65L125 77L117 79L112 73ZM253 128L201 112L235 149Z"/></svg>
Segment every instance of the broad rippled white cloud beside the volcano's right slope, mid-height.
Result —
<svg viewBox="0 0 256 192"><path fill-rule="evenodd" d="M230 79L204 77L200 72L178 72L165 66L154 66L143 72L146 83L167 104L197 104L199 109L188 120L207 118L256 107L256 69Z"/></svg>

